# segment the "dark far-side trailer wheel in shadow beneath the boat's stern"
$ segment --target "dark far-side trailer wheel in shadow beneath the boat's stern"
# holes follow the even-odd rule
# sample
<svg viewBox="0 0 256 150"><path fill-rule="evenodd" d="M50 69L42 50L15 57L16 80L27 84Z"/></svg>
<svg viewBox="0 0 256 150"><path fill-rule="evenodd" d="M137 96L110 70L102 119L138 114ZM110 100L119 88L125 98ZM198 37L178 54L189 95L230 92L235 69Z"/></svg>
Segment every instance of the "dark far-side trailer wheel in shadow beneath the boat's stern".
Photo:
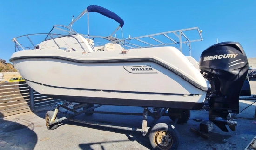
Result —
<svg viewBox="0 0 256 150"><path fill-rule="evenodd" d="M190 110L189 109L174 109L174 108L169 108L168 114L171 115L172 113L180 113L181 118L179 118L178 123L185 123L189 120L190 118ZM169 116L172 121L175 121L176 117L175 116Z"/></svg>

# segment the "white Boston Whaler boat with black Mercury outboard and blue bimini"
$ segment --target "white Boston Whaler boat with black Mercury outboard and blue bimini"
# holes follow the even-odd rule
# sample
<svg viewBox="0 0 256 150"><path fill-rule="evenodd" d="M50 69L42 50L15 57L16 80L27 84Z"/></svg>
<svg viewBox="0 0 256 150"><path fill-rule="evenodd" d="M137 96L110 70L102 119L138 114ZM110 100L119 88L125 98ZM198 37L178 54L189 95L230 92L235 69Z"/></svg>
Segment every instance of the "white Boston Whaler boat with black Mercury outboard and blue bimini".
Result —
<svg viewBox="0 0 256 150"><path fill-rule="evenodd" d="M124 40L112 37L115 31L101 37L88 30L85 36L70 28L89 12L117 21L115 31L124 25L114 12L92 5L69 26L54 25L32 49L19 44L24 36L13 38L16 52L10 61L31 88L62 100L104 105L201 110L207 99L209 119L222 131L227 124L235 130L235 121L227 115L239 113L239 93L248 71L239 43L210 46L199 64L172 46L124 49ZM56 29L68 33L56 34ZM96 45L94 38L109 42Z"/></svg>

